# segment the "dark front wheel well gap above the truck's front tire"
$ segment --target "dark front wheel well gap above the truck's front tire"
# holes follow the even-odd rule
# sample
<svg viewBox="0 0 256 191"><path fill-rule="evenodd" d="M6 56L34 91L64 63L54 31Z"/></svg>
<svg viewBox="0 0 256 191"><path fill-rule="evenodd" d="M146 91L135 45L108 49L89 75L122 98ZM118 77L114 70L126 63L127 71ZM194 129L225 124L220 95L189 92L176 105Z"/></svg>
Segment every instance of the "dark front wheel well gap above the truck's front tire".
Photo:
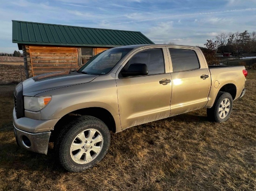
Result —
<svg viewBox="0 0 256 191"><path fill-rule="evenodd" d="M83 108L78 109L75 111L70 112L67 115L64 115L54 126L54 130L52 131L50 142L54 142L54 140L57 138L57 135L61 132L61 129L64 125L69 123L72 120L75 120L78 116L81 115L90 115L94 116L101 121L103 121L107 126L108 129L115 133L115 120L111 113L104 108Z"/></svg>

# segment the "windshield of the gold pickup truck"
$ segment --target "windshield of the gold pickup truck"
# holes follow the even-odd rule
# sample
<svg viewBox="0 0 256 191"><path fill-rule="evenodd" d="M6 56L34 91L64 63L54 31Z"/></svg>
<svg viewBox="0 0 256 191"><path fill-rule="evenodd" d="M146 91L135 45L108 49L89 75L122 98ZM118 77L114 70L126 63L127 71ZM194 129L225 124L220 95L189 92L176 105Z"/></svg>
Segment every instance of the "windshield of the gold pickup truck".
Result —
<svg viewBox="0 0 256 191"><path fill-rule="evenodd" d="M84 64L77 72L90 75L108 74L110 70L129 52L132 48L111 48L97 54Z"/></svg>

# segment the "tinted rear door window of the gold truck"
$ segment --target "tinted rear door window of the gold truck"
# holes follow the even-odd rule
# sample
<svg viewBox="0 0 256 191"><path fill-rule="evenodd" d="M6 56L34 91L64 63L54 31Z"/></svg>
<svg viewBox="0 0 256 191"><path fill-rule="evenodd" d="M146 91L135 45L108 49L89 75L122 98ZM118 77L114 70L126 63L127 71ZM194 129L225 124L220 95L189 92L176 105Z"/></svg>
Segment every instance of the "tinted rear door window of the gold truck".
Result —
<svg viewBox="0 0 256 191"><path fill-rule="evenodd" d="M195 51L177 48L169 48L169 51L174 72L200 68Z"/></svg>

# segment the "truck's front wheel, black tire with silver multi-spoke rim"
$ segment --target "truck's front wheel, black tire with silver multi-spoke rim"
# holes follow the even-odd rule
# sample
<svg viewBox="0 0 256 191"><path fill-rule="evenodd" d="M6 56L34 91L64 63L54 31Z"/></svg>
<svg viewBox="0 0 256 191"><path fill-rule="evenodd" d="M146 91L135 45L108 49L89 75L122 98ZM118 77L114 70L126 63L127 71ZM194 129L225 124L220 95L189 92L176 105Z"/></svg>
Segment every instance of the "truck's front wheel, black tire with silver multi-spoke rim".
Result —
<svg viewBox="0 0 256 191"><path fill-rule="evenodd" d="M67 124L54 143L57 158L68 172L80 172L96 165L106 155L109 145L107 125L88 115Z"/></svg>

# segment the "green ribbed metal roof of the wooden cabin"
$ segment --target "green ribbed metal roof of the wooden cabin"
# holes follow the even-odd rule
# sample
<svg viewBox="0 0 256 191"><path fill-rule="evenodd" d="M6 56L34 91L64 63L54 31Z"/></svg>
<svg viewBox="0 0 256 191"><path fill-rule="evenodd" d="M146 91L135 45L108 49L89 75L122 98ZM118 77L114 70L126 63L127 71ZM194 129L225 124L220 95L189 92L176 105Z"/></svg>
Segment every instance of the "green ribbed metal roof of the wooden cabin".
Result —
<svg viewBox="0 0 256 191"><path fill-rule="evenodd" d="M115 47L154 44L141 32L13 20L13 43Z"/></svg>

